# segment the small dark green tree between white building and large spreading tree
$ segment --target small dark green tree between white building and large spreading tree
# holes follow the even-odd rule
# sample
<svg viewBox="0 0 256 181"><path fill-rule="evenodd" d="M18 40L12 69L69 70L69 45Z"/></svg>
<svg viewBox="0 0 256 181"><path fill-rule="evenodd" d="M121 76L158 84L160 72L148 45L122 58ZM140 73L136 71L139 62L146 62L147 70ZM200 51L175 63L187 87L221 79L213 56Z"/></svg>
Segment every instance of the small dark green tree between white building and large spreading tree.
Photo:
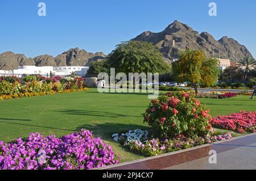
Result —
<svg viewBox="0 0 256 181"><path fill-rule="evenodd" d="M98 75L100 73L108 73L109 74L109 69L108 69L108 65L106 64L106 61L92 62L90 64L90 67L89 67L86 75L87 76Z"/></svg>

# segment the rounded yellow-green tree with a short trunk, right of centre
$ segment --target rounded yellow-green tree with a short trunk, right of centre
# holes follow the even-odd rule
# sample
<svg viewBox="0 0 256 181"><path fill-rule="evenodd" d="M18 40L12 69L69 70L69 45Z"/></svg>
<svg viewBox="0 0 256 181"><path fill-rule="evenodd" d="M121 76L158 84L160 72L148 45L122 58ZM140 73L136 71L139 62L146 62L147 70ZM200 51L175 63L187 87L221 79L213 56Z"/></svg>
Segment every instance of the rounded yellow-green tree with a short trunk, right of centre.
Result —
<svg viewBox="0 0 256 181"><path fill-rule="evenodd" d="M207 59L202 50L184 50L172 64L176 82L192 83L197 94L197 83L213 86L217 82L219 70L216 58Z"/></svg>

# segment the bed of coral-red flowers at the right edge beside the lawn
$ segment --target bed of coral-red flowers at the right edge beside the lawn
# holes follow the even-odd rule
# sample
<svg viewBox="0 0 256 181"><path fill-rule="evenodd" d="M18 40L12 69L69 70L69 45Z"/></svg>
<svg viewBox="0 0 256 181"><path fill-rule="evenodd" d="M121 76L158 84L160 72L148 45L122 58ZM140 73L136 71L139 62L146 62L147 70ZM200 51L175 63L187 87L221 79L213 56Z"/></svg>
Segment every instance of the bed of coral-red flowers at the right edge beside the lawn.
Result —
<svg viewBox="0 0 256 181"><path fill-rule="evenodd" d="M231 129L237 132L256 132L256 111L240 111L229 116L218 116L210 120L215 127Z"/></svg>

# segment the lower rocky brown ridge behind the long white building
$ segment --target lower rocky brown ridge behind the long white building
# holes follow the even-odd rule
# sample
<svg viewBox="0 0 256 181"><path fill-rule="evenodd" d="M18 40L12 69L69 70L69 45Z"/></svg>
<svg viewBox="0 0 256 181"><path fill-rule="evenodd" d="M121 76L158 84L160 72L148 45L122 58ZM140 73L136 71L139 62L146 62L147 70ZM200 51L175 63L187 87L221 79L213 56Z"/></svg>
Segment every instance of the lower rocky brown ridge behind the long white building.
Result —
<svg viewBox="0 0 256 181"><path fill-rule="evenodd" d="M71 48L56 57L44 54L34 58L27 58L24 54L4 52L0 54L0 70L18 69L22 65L36 66L89 66L93 61L100 61L106 55L102 52L90 53L84 49Z"/></svg>

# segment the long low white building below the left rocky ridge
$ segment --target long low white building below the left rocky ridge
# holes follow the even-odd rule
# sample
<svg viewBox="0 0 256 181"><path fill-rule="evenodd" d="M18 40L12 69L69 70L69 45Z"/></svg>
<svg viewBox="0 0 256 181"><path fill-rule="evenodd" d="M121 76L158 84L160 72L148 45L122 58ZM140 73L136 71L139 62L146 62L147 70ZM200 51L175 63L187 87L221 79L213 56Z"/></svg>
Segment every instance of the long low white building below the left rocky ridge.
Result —
<svg viewBox="0 0 256 181"><path fill-rule="evenodd" d="M19 66L18 69L6 71L0 70L0 75L16 75L17 77L22 77L23 75L37 74L44 77L50 77L50 75L59 75L65 77L71 73L76 75L85 76L88 66L32 66L24 65Z"/></svg>

